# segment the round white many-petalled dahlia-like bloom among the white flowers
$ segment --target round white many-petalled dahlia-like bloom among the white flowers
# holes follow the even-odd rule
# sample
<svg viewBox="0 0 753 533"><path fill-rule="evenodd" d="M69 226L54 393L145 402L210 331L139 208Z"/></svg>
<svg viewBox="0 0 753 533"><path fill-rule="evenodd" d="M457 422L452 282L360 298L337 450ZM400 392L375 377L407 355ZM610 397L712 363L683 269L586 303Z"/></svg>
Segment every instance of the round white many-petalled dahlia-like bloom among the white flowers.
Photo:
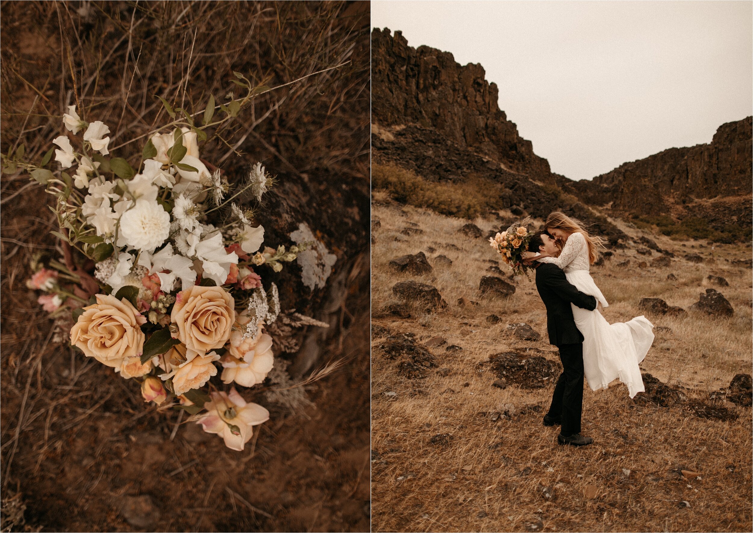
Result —
<svg viewBox="0 0 753 533"><path fill-rule="evenodd" d="M170 215L156 200L139 199L120 216L120 239L136 250L151 251L170 234Z"/></svg>

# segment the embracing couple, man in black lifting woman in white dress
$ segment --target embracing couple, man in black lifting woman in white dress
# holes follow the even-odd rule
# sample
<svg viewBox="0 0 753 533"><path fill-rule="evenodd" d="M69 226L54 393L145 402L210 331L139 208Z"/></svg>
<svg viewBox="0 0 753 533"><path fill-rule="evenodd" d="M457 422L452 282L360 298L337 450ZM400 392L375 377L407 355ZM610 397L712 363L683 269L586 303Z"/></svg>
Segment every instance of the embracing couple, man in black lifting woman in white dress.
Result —
<svg viewBox="0 0 753 533"><path fill-rule="evenodd" d="M559 444L593 443L581 434L584 375L593 391L617 378L631 398L645 391L638 365L654 342L654 325L643 316L613 324L602 316L608 303L589 267L603 244L580 222L555 212L523 253L526 264L535 268L536 288L547 308L549 342L559 348L562 360L562 375L544 416L545 426L561 425Z"/></svg>

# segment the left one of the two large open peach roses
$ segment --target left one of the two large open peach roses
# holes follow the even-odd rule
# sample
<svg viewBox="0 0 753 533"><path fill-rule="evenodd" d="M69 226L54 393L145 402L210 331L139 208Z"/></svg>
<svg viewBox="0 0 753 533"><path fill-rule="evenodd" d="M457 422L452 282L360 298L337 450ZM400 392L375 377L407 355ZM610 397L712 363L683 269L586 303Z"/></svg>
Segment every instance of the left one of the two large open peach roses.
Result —
<svg viewBox="0 0 753 533"><path fill-rule="evenodd" d="M98 294L96 304L84 308L84 314L71 328L71 344L87 357L120 368L126 357L141 357L146 322L127 299Z"/></svg>

